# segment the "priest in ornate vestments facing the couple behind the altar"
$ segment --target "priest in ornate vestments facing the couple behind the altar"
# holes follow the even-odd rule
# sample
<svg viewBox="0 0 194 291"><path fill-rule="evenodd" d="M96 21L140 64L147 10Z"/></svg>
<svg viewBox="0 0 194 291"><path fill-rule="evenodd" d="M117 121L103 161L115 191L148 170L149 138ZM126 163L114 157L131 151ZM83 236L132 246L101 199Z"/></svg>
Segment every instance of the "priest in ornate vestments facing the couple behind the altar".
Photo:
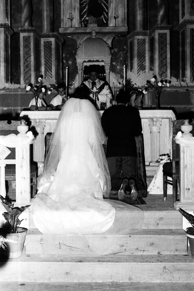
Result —
<svg viewBox="0 0 194 291"><path fill-rule="evenodd" d="M81 83L80 86L83 86L90 94L90 97L93 99L96 98L96 104L98 110L104 110L110 107L112 100L112 94L109 88L109 84L106 81L98 79L98 67L97 65L90 65L89 69L89 79ZM94 95L92 90L96 87L97 92Z"/></svg>

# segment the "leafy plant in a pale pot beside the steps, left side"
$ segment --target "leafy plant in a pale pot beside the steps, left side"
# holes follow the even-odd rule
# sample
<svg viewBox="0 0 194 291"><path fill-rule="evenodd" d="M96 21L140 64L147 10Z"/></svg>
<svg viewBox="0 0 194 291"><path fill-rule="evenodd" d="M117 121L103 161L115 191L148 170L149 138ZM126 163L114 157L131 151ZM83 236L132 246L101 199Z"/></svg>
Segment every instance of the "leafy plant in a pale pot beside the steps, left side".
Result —
<svg viewBox="0 0 194 291"><path fill-rule="evenodd" d="M7 258L18 258L22 255L27 233L27 228L20 227L24 219L19 220L19 216L30 205L20 208L14 207L14 204L7 202L1 195L0 198L4 208L7 210L7 212L2 213L6 223L4 227L1 228L1 254Z"/></svg>

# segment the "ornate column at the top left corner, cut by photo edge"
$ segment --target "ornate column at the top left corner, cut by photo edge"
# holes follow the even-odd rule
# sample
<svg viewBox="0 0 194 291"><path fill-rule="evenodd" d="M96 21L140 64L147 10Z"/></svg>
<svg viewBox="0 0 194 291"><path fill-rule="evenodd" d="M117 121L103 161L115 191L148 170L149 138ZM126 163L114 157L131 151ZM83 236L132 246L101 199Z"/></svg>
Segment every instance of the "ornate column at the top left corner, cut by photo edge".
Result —
<svg viewBox="0 0 194 291"><path fill-rule="evenodd" d="M0 86L10 82L10 1L0 1Z"/></svg>

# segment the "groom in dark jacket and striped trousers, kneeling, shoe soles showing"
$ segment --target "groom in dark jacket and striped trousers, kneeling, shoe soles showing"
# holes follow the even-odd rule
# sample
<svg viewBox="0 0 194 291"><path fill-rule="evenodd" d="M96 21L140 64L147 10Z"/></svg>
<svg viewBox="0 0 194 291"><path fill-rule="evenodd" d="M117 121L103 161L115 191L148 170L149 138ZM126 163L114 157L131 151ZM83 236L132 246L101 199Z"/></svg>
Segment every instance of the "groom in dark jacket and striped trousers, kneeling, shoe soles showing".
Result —
<svg viewBox="0 0 194 291"><path fill-rule="evenodd" d="M129 97L121 89L116 96L117 105L106 109L102 115L102 127L106 136L106 157L109 165L112 188L119 189L118 198L123 200L126 191L134 200L136 188L137 149L135 136L142 131L138 109L129 106ZM129 188L129 189L128 189Z"/></svg>

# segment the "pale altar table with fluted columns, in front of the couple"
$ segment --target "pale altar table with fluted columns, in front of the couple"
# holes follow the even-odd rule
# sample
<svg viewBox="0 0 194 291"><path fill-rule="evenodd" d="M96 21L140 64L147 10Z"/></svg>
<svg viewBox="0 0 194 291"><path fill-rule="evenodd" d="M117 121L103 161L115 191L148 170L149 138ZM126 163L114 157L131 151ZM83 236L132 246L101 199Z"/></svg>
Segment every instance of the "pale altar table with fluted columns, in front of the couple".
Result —
<svg viewBox="0 0 194 291"><path fill-rule="evenodd" d="M149 167L156 166L160 154L172 154L172 110L139 110L144 139L146 172ZM30 127L36 129L33 144L33 160L38 164L38 175L42 173L45 154L45 135L53 132L60 111L22 111L20 117L30 120ZM99 118L103 111L99 111ZM148 173L147 173L148 174Z"/></svg>

